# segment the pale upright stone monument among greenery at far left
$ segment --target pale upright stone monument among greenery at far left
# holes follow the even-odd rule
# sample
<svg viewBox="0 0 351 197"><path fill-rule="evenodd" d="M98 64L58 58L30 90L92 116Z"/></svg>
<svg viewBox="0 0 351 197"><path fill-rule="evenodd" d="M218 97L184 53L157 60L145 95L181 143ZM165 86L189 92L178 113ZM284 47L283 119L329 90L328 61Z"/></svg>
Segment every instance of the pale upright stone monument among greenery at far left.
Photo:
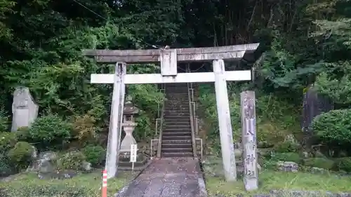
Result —
<svg viewBox="0 0 351 197"><path fill-rule="evenodd" d="M20 127L29 127L37 118L38 109L38 105L29 93L29 88L16 88L13 93L11 131L16 131Z"/></svg>

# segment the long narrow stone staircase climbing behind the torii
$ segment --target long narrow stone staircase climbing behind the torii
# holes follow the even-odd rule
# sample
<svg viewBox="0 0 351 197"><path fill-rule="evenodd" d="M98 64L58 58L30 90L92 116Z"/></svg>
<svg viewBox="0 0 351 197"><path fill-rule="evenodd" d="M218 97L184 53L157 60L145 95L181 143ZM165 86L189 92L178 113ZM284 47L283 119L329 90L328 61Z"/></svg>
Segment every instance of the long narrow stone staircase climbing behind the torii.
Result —
<svg viewBox="0 0 351 197"><path fill-rule="evenodd" d="M161 157L192 157L187 83L166 85Z"/></svg>

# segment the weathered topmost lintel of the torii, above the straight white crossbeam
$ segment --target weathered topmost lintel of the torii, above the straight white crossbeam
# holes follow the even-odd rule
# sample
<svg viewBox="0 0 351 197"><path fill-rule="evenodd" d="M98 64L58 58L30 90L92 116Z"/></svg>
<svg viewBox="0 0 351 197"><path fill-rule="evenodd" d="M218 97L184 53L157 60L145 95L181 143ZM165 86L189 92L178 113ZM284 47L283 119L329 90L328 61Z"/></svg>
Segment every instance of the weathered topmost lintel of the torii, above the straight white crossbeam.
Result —
<svg viewBox="0 0 351 197"><path fill-rule="evenodd" d="M245 53L253 53L259 43L234 46L218 46L204 48L161 48L147 50L83 50L83 55L94 56L101 63L147 63L161 62L162 57L176 59L177 62L194 62L208 60L238 60ZM165 58L165 57L164 57Z"/></svg>

